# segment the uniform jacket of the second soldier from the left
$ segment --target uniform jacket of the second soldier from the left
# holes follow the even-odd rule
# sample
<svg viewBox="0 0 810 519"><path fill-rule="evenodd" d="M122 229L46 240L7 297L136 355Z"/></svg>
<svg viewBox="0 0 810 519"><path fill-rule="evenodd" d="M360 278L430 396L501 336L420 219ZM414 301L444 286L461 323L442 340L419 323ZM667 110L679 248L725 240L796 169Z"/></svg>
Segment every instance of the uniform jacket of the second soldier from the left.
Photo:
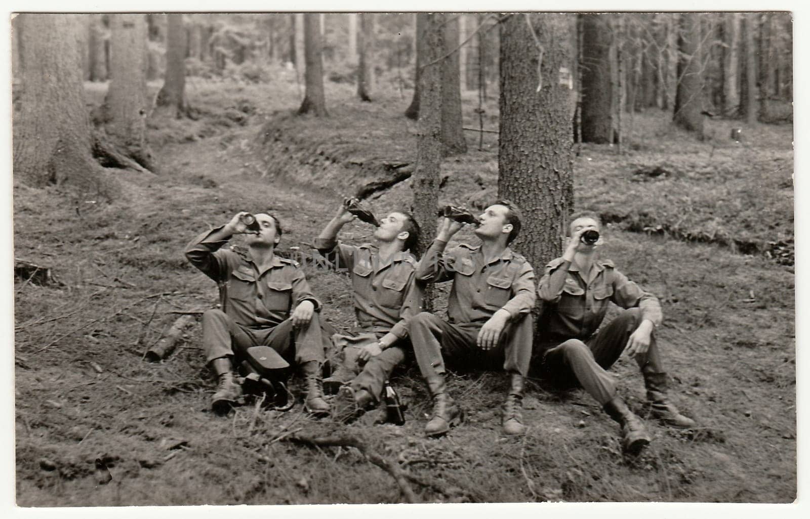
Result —
<svg viewBox="0 0 810 519"><path fill-rule="evenodd" d="M396 253L382 262L368 244L317 238L315 247L338 269L348 270L361 328L407 338L407 323L421 312L423 296L422 284L414 280L416 258L411 253Z"/></svg>

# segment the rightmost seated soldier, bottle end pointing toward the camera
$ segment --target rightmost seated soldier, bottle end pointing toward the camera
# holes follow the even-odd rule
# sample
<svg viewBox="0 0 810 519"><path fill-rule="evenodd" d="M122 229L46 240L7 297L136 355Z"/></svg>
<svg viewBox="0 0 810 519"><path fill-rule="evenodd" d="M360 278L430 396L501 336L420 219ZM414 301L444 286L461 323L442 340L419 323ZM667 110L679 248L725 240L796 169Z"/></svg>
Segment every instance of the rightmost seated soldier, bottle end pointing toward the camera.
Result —
<svg viewBox="0 0 810 519"><path fill-rule="evenodd" d="M616 380L605 371L622 351L641 368L655 417L676 428L691 428L695 422L667 401L667 375L654 336L662 318L659 300L616 270L613 262L599 258L601 227L594 212L574 215L565 253L546 266L538 287L544 312L535 358L539 371L552 381L582 385L620 423L622 446L635 453L650 443L650 436L616 395ZM599 329L608 301L625 310Z"/></svg>

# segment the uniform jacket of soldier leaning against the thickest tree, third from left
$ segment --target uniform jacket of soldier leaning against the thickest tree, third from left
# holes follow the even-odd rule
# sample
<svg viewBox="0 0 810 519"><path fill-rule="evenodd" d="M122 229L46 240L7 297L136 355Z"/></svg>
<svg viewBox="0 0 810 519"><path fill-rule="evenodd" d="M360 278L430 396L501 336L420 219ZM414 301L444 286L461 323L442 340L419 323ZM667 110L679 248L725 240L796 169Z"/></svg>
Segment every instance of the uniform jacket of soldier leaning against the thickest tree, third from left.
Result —
<svg viewBox="0 0 810 519"><path fill-rule="evenodd" d="M450 322L486 321L501 308L514 321L535 306L535 271L525 257L509 247L490 262L480 246L458 245L444 253L447 243L433 240L416 269L427 283L453 280L447 316Z"/></svg>

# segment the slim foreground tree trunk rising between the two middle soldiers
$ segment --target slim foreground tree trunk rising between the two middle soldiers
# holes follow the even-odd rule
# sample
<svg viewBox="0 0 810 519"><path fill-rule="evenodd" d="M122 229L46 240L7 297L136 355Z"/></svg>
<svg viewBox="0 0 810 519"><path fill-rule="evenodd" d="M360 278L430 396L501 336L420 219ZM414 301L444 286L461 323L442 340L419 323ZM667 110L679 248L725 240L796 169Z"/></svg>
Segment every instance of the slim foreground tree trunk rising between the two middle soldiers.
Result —
<svg viewBox="0 0 810 519"><path fill-rule="evenodd" d="M422 14L424 23L424 54L426 64L419 74L420 110L419 132L416 141L416 171L411 178L413 189L413 215L421 232L419 252L428 249L436 236L436 207L439 200L439 169L441 167L441 57L444 49L444 29L441 14ZM431 306L430 291L425 303Z"/></svg>

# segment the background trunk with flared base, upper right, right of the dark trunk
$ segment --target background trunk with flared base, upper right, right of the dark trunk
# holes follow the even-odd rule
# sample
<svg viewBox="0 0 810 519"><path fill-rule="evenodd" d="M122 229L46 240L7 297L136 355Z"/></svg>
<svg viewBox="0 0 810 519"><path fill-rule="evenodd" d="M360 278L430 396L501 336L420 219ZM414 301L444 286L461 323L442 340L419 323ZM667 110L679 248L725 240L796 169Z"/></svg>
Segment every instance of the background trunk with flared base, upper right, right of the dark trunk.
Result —
<svg viewBox="0 0 810 519"><path fill-rule="evenodd" d="M697 13L681 13L678 32L678 87L675 94L673 121L685 130L702 137L703 114L701 63L698 54L700 18Z"/></svg>

